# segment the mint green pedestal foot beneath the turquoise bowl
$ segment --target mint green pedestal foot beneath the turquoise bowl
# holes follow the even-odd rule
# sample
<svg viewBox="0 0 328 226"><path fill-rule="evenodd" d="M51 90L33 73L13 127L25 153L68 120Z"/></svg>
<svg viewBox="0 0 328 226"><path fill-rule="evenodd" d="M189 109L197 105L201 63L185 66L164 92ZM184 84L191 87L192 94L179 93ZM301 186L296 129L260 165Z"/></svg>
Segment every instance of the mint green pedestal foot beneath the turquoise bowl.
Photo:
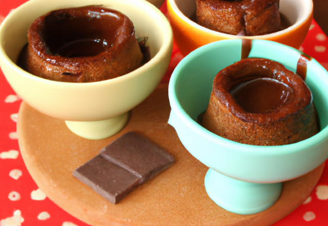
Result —
<svg viewBox="0 0 328 226"><path fill-rule="evenodd" d="M281 183L251 183L225 176L210 168L205 189L221 208L236 214L256 214L267 210L279 198Z"/></svg>

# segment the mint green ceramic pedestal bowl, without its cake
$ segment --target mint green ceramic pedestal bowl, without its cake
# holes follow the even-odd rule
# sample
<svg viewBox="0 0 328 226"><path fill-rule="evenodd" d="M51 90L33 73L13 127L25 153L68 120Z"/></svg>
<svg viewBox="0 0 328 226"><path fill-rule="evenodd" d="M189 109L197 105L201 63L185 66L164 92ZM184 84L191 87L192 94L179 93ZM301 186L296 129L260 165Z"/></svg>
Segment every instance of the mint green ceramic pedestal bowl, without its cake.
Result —
<svg viewBox="0 0 328 226"><path fill-rule="evenodd" d="M169 84L171 124L187 150L210 167L205 187L210 198L237 214L255 214L279 198L281 182L300 177L328 158L328 72L314 59L307 63L305 83L313 94L320 132L304 141L255 146L221 138L195 119L206 110L217 72L241 58L242 41L202 46L183 59ZM296 72L302 52L271 41L253 40L249 58L267 58Z"/></svg>

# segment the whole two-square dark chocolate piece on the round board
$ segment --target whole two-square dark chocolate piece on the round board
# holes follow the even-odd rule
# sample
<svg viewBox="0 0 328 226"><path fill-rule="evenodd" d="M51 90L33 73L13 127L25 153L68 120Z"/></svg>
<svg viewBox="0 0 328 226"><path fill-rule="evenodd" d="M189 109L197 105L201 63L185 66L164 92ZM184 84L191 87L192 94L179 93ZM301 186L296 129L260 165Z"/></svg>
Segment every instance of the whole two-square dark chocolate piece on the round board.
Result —
<svg viewBox="0 0 328 226"><path fill-rule="evenodd" d="M115 204L173 163L165 149L129 132L78 167L73 176Z"/></svg>

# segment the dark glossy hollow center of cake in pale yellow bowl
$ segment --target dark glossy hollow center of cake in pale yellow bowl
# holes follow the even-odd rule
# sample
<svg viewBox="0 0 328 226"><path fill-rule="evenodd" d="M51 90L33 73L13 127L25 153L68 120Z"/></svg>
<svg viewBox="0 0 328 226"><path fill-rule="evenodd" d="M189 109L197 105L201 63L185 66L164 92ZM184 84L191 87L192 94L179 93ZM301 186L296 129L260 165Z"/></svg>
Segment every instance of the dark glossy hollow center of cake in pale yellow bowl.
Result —
<svg viewBox="0 0 328 226"><path fill-rule="evenodd" d="M45 18L42 36L52 55L96 56L114 44L122 23L122 18L110 12L50 14Z"/></svg>

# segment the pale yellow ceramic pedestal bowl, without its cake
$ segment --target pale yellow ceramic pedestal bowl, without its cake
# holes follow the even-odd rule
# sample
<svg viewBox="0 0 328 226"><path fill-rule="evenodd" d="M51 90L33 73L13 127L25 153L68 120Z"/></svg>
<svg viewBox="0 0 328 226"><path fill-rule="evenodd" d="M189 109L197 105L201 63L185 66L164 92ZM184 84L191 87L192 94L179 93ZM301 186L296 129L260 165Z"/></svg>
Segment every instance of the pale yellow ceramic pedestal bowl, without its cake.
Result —
<svg viewBox="0 0 328 226"><path fill-rule="evenodd" d="M126 14L136 36L148 36L151 60L115 79L93 83L65 83L42 79L15 62L27 43L30 24L47 12L95 4L91 0L31 0L14 9L0 27L0 66L25 102L44 114L66 120L79 136L101 139L117 133L127 122L127 112L145 100L159 84L172 54L172 29L167 18L143 0L99 0L97 4ZM147 13L145 13L147 11Z"/></svg>

